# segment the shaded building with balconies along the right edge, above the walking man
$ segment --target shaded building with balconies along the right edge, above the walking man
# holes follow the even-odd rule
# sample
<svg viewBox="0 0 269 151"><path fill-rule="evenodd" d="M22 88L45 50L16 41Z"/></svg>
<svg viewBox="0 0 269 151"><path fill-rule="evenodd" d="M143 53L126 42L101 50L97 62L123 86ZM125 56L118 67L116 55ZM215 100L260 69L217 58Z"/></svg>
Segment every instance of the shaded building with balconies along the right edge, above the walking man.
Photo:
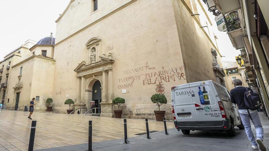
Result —
<svg viewBox="0 0 269 151"><path fill-rule="evenodd" d="M260 91L269 119L269 1L203 0L217 17L223 17L227 34L244 59L249 86ZM219 16L218 16L219 15Z"/></svg>

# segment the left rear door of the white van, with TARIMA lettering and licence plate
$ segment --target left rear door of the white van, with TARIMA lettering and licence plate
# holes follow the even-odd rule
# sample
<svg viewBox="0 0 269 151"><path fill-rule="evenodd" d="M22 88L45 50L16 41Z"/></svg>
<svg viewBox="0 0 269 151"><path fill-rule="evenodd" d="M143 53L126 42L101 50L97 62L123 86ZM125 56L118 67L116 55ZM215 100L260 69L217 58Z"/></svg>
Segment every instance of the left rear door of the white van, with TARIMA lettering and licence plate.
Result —
<svg viewBox="0 0 269 151"><path fill-rule="evenodd" d="M183 84L172 92L174 111L179 126L198 126L189 84Z"/></svg>

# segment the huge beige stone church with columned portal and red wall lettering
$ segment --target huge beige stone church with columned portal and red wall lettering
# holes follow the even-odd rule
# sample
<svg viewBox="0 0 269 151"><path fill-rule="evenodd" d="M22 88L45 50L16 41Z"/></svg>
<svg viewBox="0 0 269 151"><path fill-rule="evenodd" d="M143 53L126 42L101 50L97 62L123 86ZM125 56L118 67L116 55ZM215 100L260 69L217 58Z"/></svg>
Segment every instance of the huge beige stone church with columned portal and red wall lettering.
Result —
<svg viewBox="0 0 269 151"><path fill-rule="evenodd" d="M40 110L51 97L53 111L66 113L69 98L75 109L95 101L100 116L114 117L112 99L122 97L123 117L154 119L150 97L162 93L168 103L161 110L172 119L172 86L216 81L211 51L218 49L200 2L71 0L56 23L52 92L37 102Z"/></svg>

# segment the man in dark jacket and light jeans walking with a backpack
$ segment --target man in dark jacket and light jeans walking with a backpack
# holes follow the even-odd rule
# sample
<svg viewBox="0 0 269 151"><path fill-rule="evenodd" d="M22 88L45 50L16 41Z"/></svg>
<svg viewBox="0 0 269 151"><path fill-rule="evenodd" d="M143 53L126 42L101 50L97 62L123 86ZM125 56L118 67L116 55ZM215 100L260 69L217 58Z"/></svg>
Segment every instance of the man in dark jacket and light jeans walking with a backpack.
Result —
<svg viewBox="0 0 269 151"><path fill-rule="evenodd" d="M260 150L266 151L266 148L263 144L263 127L257 112L257 107L260 107L261 104L260 97L250 88L243 87L242 81L240 79L234 79L233 84L235 88L230 91L231 102L237 104L238 106L238 112L240 114L241 121L245 126L245 131L249 141L252 143L252 148L258 149L259 144ZM256 141L251 130L249 119L252 120L252 123L256 128Z"/></svg>

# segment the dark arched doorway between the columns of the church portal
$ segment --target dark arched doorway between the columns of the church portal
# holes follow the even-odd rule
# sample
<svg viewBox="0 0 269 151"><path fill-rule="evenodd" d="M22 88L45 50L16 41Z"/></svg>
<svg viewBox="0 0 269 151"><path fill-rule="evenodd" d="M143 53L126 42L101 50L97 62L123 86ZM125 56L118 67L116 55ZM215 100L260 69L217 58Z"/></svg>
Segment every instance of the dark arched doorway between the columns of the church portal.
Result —
<svg viewBox="0 0 269 151"><path fill-rule="evenodd" d="M92 101L94 101L95 107L99 107L100 103L102 101L102 93L101 93L101 83L99 80L94 82L93 88L92 88ZM101 113L101 109L96 110L96 113L100 114Z"/></svg>

